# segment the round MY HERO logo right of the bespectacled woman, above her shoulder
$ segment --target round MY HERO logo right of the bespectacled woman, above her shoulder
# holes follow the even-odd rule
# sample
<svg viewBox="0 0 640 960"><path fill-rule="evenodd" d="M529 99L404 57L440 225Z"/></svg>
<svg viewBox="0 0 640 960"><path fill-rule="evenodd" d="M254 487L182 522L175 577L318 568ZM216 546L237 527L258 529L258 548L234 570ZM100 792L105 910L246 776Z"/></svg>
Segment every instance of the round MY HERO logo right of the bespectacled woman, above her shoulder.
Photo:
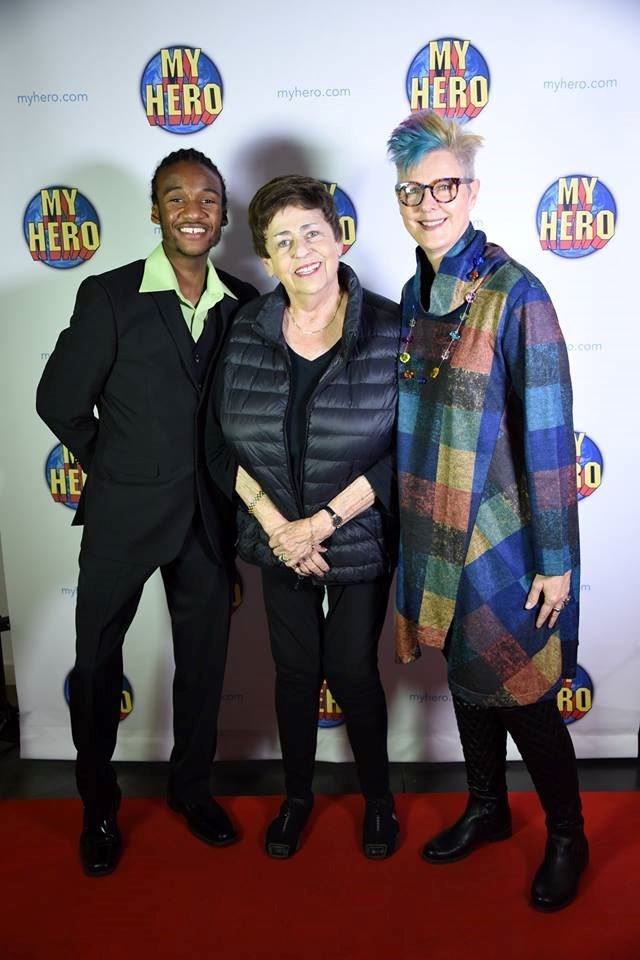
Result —
<svg viewBox="0 0 640 960"><path fill-rule="evenodd" d="M601 250L615 234L616 205L598 177L560 177L545 191L537 220L543 250L586 256Z"/></svg>

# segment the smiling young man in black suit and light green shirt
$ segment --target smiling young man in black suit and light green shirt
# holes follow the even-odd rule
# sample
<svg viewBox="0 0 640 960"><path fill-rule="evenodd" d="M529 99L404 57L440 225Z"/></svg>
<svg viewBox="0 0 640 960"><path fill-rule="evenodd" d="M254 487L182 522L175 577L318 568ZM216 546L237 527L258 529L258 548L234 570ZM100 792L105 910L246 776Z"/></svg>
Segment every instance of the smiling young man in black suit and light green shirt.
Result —
<svg viewBox="0 0 640 960"><path fill-rule="evenodd" d="M206 843L223 846L238 836L209 789L233 518L207 475L203 421L225 333L257 291L209 262L227 223L227 198L208 157L191 149L165 157L151 199L161 245L147 260L83 281L37 396L38 413L87 473L74 519L84 530L70 710L84 803L80 855L90 876L111 873L122 850L110 762L122 645L158 568L175 657L168 802Z"/></svg>

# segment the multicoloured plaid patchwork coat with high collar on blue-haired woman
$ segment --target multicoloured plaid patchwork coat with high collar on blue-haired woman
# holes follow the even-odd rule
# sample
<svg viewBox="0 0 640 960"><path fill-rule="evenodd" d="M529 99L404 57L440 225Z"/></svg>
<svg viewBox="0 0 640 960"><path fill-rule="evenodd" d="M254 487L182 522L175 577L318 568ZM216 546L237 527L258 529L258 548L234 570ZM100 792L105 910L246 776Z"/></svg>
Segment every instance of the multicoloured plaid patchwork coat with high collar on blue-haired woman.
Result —
<svg viewBox="0 0 640 960"><path fill-rule="evenodd" d="M565 343L539 280L472 226L435 277L420 250L417 259L402 296L396 656L409 663L421 644L446 641L458 697L535 703L576 666L580 561ZM537 610L524 609L535 574L567 570L570 603L553 630L537 628Z"/></svg>

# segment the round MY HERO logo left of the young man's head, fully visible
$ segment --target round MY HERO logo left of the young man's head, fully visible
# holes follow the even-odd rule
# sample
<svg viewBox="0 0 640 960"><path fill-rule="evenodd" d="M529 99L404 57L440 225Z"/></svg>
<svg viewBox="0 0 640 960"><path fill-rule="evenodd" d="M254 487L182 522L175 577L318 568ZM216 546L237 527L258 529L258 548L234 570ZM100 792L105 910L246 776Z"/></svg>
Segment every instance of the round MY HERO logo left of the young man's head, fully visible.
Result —
<svg viewBox="0 0 640 960"><path fill-rule="evenodd" d="M27 206L24 232L31 258L49 266L77 266L100 246L96 211L76 187L40 190Z"/></svg>

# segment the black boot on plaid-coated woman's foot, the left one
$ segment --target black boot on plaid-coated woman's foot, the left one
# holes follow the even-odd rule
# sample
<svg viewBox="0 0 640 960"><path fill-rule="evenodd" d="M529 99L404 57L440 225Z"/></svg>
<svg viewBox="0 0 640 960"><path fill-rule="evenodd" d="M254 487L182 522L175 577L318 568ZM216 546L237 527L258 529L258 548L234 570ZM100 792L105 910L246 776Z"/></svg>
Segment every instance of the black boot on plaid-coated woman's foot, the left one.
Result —
<svg viewBox="0 0 640 960"><path fill-rule="evenodd" d="M422 856L429 863L454 863L472 853L481 843L511 836L511 811L506 797L469 797L459 820L425 845Z"/></svg>

